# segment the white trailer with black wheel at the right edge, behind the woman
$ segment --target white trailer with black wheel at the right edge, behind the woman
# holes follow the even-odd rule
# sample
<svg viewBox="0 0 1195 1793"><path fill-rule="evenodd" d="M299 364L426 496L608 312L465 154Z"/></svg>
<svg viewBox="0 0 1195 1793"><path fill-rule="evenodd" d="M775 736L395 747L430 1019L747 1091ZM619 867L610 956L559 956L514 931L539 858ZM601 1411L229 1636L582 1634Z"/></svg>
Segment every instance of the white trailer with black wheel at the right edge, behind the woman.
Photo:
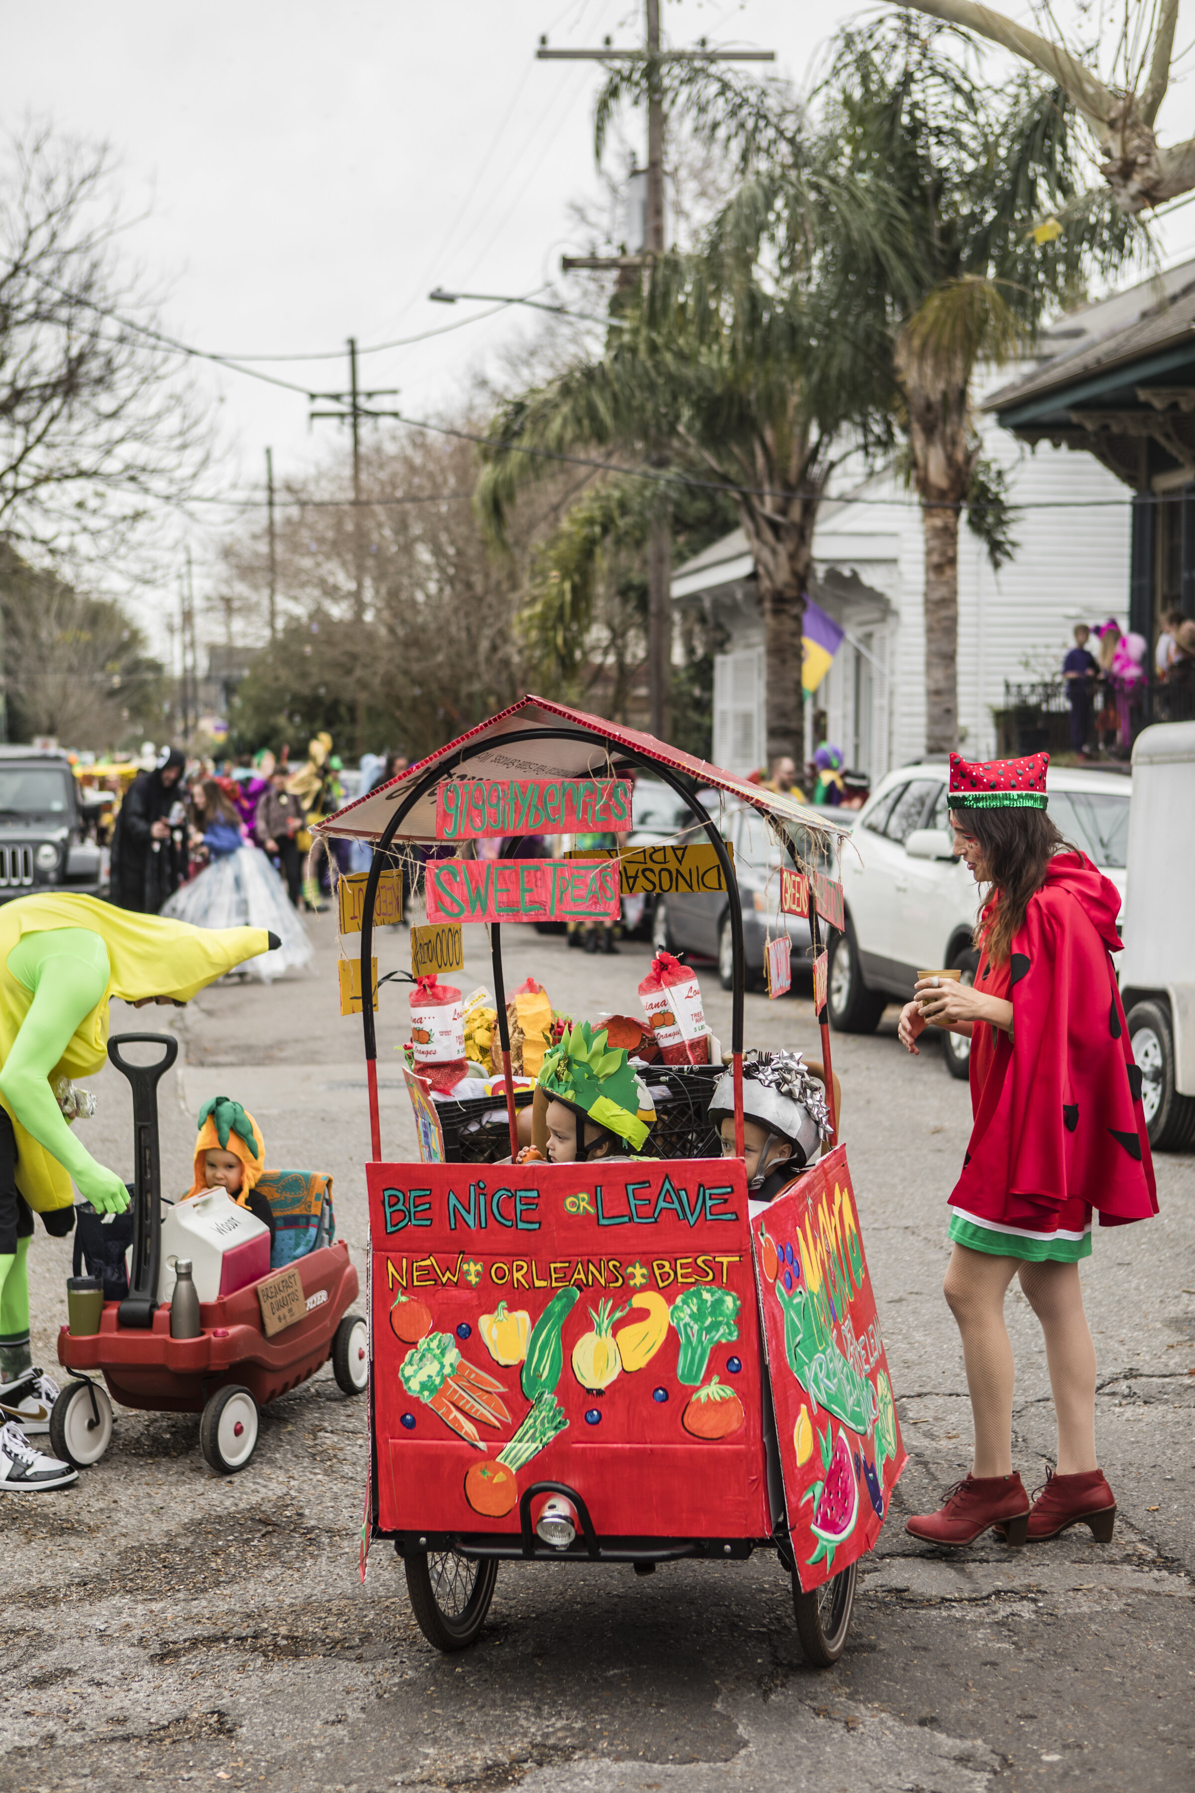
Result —
<svg viewBox="0 0 1195 1793"><path fill-rule="evenodd" d="M1195 1146L1195 723L1132 748L1129 893L1120 992L1150 1146Z"/></svg>

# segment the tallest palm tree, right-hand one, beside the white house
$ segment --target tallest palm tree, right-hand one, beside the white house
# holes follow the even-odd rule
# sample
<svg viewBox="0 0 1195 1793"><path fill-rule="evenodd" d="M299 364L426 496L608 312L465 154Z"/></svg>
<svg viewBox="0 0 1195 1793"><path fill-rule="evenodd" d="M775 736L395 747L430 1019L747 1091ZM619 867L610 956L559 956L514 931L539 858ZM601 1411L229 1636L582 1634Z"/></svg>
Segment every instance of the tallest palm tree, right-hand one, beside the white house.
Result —
<svg viewBox="0 0 1195 1793"><path fill-rule="evenodd" d="M618 79L625 90L636 77ZM692 65L670 79L688 88L695 129L738 156L744 185L729 212L756 212L754 188L767 186L783 269L810 258L810 136L826 158L835 204L817 219L819 303L849 317L873 402L892 407L905 436L924 529L926 749L950 751L960 515L993 565L1012 552L998 470L980 461L975 369L1032 341L1043 312L1088 273L1132 255L1139 226L1107 192L1080 197L1064 93L1025 75L993 95L966 39L944 29L898 18L842 32L813 102ZM1066 226L1039 228L1055 212ZM838 333L849 339L842 325Z"/></svg>

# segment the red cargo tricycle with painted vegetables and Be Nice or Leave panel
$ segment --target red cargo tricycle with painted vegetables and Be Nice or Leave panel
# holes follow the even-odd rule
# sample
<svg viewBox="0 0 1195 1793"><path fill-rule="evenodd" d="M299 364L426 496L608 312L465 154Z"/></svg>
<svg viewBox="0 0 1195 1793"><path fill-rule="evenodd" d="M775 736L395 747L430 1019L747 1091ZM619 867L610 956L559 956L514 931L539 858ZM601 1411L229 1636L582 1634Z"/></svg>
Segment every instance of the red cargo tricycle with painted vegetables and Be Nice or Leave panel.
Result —
<svg viewBox="0 0 1195 1793"><path fill-rule="evenodd" d="M502 923L613 918L622 859L466 855L494 836L518 850L530 834L625 834L627 775L638 769L692 803L684 839L717 855L735 947L733 1149L720 1156L717 1133L699 1130L699 1156L652 1155L675 1135L649 1133L634 1155L554 1164L532 1151L529 1162ZM373 1133L362 1574L369 1540L392 1538L416 1617L441 1650L478 1635L503 1558L650 1572L774 1549L792 1576L804 1653L830 1666L846 1642L858 1558L905 1467L846 1149L835 1144L770 1203L749 1198L740 896L697 791L751 803L783 850L783 905L804 904L810 920L833 1122L819 948L840 889L819 870L824 825L790 798L650 735L525 697L322 825L374 846L355 984ZM412 846L443 853L444 843L451 857L425 866L426 911L432 923L489 927L505 1069L489 1103L505 1104L503 1162L443 1162L446 1130L423 1083L421 1158L382 1155L374 898ZM666 1004L665 1017L675 1020ZM573 1049L600 1060L600 1020L584 1040ZM718 1070L672 1070L668 1088L692 1076L708 1104Z"/></svg>

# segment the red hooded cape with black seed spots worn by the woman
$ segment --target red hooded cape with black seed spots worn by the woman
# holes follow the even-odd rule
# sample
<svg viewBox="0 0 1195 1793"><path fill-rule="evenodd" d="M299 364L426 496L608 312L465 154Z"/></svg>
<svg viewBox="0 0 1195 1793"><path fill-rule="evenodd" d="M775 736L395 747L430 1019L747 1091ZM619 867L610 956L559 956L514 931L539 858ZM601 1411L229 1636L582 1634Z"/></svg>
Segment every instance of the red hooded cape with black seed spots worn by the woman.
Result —
<svg viewBox="0 0 1195 1793"><path fill-rule="evenodd" d="M975 1128L950 1198L969 1214L1052 1230L1073 1198L1104 1226L1157 1212L1111 961L1118 913L1120 891L1082 853L1059 853L1028 900L1009 963L1012 1040L996 1033L971 1083Z"/></svg>

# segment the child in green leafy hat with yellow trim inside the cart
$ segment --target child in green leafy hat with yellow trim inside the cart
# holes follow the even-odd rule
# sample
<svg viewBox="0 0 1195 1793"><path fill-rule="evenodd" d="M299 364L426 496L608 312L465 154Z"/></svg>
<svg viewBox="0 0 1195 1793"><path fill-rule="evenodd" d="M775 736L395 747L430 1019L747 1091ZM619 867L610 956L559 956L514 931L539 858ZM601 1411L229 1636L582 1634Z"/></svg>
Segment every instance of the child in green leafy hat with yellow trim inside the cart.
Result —
<svg viewBox="0 0 1195 1793"><path fill-rule="evenodd" d="M606 1027L570 1027L545 1056L537 1083L548 1097L552 1164L625 1158L643 1149L656 1108L625 1047L607 1051Z"/></svg>

